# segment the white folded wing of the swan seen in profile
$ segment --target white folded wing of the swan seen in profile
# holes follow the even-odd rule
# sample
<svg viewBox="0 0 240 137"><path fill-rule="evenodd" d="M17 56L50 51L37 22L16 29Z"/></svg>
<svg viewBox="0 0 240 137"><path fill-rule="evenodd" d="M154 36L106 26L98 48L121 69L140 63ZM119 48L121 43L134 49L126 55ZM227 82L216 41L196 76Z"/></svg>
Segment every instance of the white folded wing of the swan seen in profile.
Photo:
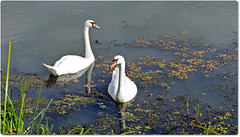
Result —
<svg viewBox="0 0 240 137"><path fill-rule="evenodd" d="M92 62L93 61L89 61L89 59L85 59L77 55L67 55L58 60L54 64L54 67L58 71L59 75L72 74L85 69Z"/></svg>

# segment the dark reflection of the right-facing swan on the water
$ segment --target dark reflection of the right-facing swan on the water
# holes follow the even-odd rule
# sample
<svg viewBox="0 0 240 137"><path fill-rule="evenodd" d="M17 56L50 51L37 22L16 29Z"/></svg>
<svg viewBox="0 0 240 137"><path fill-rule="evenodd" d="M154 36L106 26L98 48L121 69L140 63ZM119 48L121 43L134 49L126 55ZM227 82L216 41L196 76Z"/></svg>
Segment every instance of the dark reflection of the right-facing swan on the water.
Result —
<svg viewBox="0 0 240 137"><path fill-rule="evenodd" d="M49 78L46 82L46 89L49 89L53 85L55 85L57 82L70 82L74 81L77 78L81 77L85 72L87 72L86 75L86 86L85 86L85 91L86 93L90 93L91 89L89 85L91 85L91 75L92 75L92 70L95 65L95 62L93 62L89 67L80 70L79 72L75 74L70 74L70 75L61 75L61 76L54 76L52 74L49 75Z"/></svg>

